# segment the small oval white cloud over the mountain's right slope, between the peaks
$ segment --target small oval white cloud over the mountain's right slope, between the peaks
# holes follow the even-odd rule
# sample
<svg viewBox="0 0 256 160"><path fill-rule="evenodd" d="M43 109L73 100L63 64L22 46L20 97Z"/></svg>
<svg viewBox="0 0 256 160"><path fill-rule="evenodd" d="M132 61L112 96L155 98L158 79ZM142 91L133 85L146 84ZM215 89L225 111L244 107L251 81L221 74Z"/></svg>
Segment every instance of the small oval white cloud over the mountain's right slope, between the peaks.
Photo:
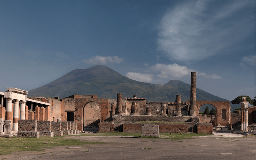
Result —
<svg viewBox="0 0 256 160"><path fill-rule="evenodd" d="M129 79L140 81L140 82L147 82L147 83L151 83L154 77L151 74L147 74L147 73L143 74L143 73L136 73L136 72L128 72L126 76Z"/></svg>

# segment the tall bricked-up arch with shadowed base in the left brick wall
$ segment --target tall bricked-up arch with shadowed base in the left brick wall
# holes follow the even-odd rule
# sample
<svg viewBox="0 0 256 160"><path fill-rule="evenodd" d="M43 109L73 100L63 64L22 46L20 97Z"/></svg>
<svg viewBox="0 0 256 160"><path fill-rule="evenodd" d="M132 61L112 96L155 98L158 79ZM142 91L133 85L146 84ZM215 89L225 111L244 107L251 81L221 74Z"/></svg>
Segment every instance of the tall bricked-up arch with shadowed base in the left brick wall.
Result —
<svg viewBox="0 0 256 160"><path fill-rule="evenodd" d="M101 107L90 101L83 107L83 131L98 131L101 121Z"/></svg>

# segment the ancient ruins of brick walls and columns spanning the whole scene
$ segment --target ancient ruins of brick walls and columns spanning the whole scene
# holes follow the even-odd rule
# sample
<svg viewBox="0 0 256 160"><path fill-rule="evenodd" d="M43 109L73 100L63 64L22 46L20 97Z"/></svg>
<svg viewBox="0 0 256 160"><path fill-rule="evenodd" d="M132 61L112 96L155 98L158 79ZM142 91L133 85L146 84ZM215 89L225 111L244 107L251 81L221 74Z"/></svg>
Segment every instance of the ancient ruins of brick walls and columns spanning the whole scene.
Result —
<svg viewBox="0 0 256 160"><path fill-rule="evenodd" d="M78 131L141 133L142 127L149 124L158 126L159 133L212 133L213 126L232 128L232 120L238 119L235 116L232 119L229 101L196 100L195 72L191 72L191 98L185 102L181 95L176 95L175 102L147 102L146 98L136 95L127 98L122 93L117 93L117 99L98 99L97 95L72 95L63 99L27 97L27 93L17 88L0 92L1 135L38 137ZM248 107L246 99L243 100L240 129L256 132L256 108ZM204 104L213 105L217 115L210 118L199 115Z"/></svg>

